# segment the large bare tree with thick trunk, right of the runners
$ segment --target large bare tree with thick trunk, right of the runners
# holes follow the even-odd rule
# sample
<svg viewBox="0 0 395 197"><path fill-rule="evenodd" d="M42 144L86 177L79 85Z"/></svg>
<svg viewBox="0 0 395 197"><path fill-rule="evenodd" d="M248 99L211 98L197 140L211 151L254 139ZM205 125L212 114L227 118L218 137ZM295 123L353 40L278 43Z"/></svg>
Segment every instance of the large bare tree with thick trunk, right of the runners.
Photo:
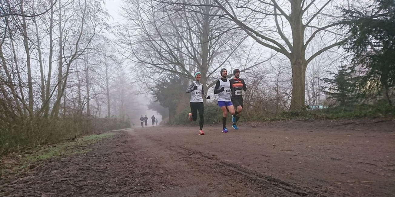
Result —
<svg viewBox="0 0 395 197"><path fill-rule="evenodd" d="M291 110L305 106L305 74L307 65L317 56L343 43L346 37L339 31L341 15L336 6L345 0L213 0L215 4L167 1L169 4L198 7L218 7L226 18L235 22L257 43L290 60L292 68ZM203 8L202 8L203 9ZM325 44L307 53L312 41Z"/></svg>

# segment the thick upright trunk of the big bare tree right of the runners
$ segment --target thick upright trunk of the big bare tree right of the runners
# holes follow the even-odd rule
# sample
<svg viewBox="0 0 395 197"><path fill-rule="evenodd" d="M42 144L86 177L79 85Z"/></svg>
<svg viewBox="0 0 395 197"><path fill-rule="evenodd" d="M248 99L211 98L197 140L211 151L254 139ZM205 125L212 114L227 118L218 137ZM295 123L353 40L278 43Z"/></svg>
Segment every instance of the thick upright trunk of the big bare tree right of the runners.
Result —
<svg viewBox="0 0 395 197"><path fill-rule="evenodd" d="M305 28L302 22L302 1L291 1L291 29L293 47L291 52L292 66L292 99L291 111L303 110L305 106L305 78L307 61L304 49Z"/></svg>

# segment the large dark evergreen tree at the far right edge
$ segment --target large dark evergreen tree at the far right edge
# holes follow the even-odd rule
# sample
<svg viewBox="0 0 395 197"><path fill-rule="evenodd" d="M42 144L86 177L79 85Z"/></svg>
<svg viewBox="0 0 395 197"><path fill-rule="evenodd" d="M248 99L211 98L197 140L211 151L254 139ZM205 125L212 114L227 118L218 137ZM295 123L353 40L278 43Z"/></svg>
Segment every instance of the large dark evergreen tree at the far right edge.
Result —
<svg viewBox="0 0 395 197"><path fill-rule="evenodd" d="M363 71L361 91L384 96L392 106L395 87L395 0L374 0L372 6L344 9L345 26L352 38L344 45L352 66Z"/></svg>

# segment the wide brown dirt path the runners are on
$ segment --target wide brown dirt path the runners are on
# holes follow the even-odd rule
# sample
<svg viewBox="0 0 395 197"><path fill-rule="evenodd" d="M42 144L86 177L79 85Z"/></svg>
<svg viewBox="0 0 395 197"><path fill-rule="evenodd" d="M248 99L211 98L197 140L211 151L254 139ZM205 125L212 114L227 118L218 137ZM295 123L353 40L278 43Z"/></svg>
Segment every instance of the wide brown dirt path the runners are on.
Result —
<svg viewBox="0 0 395 197"><path fill-rule="evenodd" d="M150 127L0 179L0 196L395 196L395 122Z"/></svg>

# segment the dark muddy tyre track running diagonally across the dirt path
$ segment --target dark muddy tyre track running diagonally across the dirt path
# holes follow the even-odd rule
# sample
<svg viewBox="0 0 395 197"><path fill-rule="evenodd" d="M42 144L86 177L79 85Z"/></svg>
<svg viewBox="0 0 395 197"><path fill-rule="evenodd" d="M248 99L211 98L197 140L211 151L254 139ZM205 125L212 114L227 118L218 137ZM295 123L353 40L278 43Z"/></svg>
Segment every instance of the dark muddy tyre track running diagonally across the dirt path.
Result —
<svg viewBox="0 0 395 197"><path fill-rule="evenodd" d="M180 159L184 162L190 163L195 167L201 166L215 166L214 171L226 177L232 177L241 182L251 184L255 190L261 192L263 195L274 196L303 196L303 197L326 197L327 195L314 191L311 188L296 186L288 182L282 181L278 178L263 175L252 169L247 169L231 162L222 161L214 155L207 154L188 147L167 147L180 155ZM186 156L187 155L187 156ZM202 164L204 162L204 164ZM207 170L207 169L203 169Z"/></svg>

